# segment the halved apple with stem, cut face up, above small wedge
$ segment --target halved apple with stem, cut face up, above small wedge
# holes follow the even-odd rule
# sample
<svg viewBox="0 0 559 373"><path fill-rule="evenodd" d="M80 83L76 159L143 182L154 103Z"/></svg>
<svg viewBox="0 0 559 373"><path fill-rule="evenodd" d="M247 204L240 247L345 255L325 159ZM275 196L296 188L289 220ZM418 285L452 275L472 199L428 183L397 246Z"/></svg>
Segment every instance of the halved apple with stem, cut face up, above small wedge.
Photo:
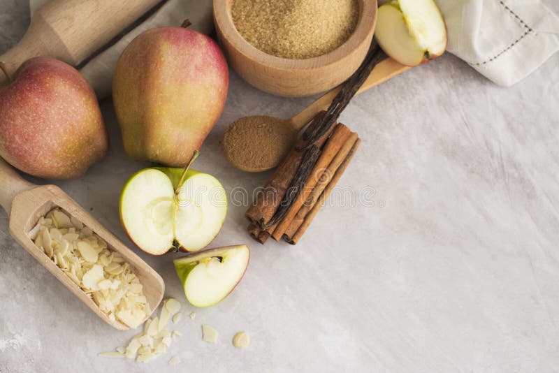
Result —
<svg viewBox="0 0 559 373"><path fill-rule="evenodd" d="M120 198L120 219L143 251L198 251L221 230L227 198L222 184L206 173L181 168L147 168L132 175Z"/></svg>

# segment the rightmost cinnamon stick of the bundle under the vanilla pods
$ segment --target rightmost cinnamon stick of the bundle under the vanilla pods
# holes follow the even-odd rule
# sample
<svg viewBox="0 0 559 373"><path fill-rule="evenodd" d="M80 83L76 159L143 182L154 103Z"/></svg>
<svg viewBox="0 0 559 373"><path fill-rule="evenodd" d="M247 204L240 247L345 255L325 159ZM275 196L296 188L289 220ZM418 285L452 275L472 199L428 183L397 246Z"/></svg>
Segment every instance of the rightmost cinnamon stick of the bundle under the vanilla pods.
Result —
<svg viewBox="0 0 559 373"><path fill-rule="evenodd" d="M335 155L334 159L328 165L328 168L324 170L324 173L322 173L321 177L319 178L317 185L314 186L314 189L312 189L312 193L310 193L310 196L307 198L307 200L305 200L305 203L303 204L303 206L300 207L299 211L289 224L289 227L287 227L284 233L284 238L286 239L286 241L289 242L293 235L297 233L299 227L301 226L301 224L303 224L305 217L310 212L310 210L312 210L312 207L317 204L322 192L324 191L324 189L326 189L326 186L330 184L337 169L340 168L340 165L345 161L347 155L349 154L349 152L351 152L351 149L353 148L357 140L357 133L352 132L351 136L349 136L347 141L341 147L340 152Z"/></svg>

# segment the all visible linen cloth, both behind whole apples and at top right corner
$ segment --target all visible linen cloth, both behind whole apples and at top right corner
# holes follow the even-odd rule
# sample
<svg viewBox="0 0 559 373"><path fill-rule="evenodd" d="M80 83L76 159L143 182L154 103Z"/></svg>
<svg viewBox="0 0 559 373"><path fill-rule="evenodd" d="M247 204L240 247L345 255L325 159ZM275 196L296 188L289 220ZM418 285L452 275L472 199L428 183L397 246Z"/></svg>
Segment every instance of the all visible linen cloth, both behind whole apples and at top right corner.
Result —
<svg viewBox="0 0 559 373"><path fill-rule="evenodd" d="M30 0L31 13L47 0ZM498 85L522 80L559 50L559 17L540 0L435 0L447 22L448 51ZM557 0L554 0L557 1ZM81 72L99 98L110 96L112 71L122 50L138 34L180 25L208 34L212 0L168 0L143 24L94 57Z"/></svg>

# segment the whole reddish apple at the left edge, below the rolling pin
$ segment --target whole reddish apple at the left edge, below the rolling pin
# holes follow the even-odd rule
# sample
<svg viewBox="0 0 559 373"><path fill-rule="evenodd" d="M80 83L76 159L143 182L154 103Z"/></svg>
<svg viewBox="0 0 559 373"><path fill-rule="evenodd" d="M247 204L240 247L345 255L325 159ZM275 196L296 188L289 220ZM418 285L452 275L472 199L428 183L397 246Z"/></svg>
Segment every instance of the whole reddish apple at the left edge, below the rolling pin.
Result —
<svg viewBox="0 0 559 373"><path fill-rule="evenodd" d="M0 92L0 156L37 177L80 177L108 149L92 87L48 57L25 61L16 76Z"/></svg>

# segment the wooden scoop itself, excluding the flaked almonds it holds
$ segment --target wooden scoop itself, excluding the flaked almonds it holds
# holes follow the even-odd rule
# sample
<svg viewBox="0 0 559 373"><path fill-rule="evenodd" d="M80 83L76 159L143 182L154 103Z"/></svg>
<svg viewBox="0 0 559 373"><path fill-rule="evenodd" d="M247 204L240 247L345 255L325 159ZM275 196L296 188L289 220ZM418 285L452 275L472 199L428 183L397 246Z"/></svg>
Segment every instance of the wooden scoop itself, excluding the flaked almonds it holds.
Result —
<svg viewBox="0 0 559 373"><path fill-rule="evenodd" d="M61 281L75 296L91 308L101 319L119 330L128 330L129 326L119 321L112 321L97 307L95 302L85 295L84 291L69 279L50 258L37 247L28 236L39 218L44 217L55 207L61 207L68 214L80 220L107 242L110 249L119 252L125 261L130 263L134 272L143 284L143 291L152 310L157 309L163 298L165 284L145 261L133 253L131 249L119 242L117 237L107 231L99 222L89 215L78 203L55 185L36 186L17 175L15 170L0 158L0 205L10 218L10 233L29 254L34 256L43 267ZM32 269L30 268L31 272ZM146 316L149 317L150 315ZM145 321L145 320L143 320ZM143 322L142 321L142 322Z"/></svg>

